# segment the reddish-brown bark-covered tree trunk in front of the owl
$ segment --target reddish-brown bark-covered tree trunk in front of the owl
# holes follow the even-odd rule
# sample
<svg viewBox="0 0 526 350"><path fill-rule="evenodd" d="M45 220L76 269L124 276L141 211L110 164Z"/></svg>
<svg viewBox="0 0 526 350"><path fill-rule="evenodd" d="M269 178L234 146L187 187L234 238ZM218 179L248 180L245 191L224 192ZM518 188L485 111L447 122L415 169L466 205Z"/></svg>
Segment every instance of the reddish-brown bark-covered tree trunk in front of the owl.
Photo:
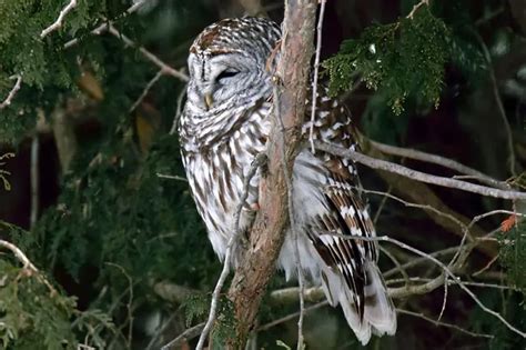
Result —
<svg viewBox="0 0 526 350"><path fill-rule="evenodd" d="M315 0L285 2L280 60L274 79L276 118L267 143L269 162L262 179L260 211L251 230L250 246L229 291L237 324L235 339L227 344L227 349L244 348L289 227L283 162L291 174L305 113L316 4ZM282 119L284 130L277 118Z"/></svg>

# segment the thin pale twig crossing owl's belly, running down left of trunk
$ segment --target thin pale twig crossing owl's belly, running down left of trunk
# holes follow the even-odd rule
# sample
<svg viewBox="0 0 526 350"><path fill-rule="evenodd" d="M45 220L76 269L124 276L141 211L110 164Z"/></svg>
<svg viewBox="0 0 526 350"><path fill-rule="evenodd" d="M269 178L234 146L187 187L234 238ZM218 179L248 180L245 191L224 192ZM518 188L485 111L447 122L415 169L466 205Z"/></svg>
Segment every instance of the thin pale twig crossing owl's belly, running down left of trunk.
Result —
<svg viewBox="0 0 526 350"><path fill-rule="evenodd" d="M246 199L249 198L250 181L255 176L257 169L263 164L264 161L265 161L265 156L264 154L257 154L254 158L254 161L252 162L251 168L249 169L249 172L247 172L246 177L243 180L243 193L240 198L240 202L237 203L237 208L235 209L235 212L234 212L235 231L230 237L229 243L226 244L226 252L225 252L225 256L224 256L223 270L221 271L220 278L219 278L218 283L215 284L214 291L212 293L212 302L210 304L209 318L206 320L206 323L204 324L204 328L203 328L203 331L202 331L201 336L199 337L199 342L198 342L198 346L195 347L196 350L202 350L203 349L204 341L206 340L206 337L208 337L209 332L212 330L212 326L215 321L215 313L216 313L216 310L218 310L221 289L223 289L224 281L226 280L226 277L229 276L229 271L230 271L230 264L231 264L231 258L232 258L232 248L233 248L234 243L237 241L237 238L241 234L241 229L240 229L241 212L243 210L243 206L245 204Z"/></svg>

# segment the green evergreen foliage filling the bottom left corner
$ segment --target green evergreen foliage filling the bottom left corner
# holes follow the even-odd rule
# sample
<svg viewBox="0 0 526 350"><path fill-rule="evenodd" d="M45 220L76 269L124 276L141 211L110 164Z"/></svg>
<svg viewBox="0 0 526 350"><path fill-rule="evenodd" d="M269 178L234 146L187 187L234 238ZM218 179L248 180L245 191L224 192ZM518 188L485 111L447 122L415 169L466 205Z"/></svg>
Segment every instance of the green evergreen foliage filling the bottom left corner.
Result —
<svg viewBox="0 0 526 350"><path fill-rule="evenodd" d="M0 233L28 236L0 222ZM113 330L111 317L93 309L81 312L74 297L44 283L41 272L19 267L14 258L0 260L0 347L2 349L77 349L78 332L103 348L101 333ZM114 332L114 330L113 330Z"/></svg>

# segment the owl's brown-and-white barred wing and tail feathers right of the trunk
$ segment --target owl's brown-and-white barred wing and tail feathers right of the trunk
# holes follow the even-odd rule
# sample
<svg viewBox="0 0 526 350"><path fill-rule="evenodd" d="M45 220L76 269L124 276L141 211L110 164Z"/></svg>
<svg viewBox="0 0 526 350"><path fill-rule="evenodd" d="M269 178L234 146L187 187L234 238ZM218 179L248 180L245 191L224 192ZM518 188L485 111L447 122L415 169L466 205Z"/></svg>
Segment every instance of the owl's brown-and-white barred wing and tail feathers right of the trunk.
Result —
<svg viewBox="0 0 526 350"><path fill-rule="evenodd" d="M318 99L318 102L321 111L314 123L314 138L354 149L356 146L346 110L326 98ZM308 129L306 123L304 134L308 134ZM396 314L376 267L376 242L342 237L376 236L356 189L358 180L354 164L320 151L315 156L324 163L328 186L321 189L325 199L324 211L313 217L304 229L324 262L321 274L325 296L332 306L342 306L347 322L362 343L368 342L372 332L394 334Z"/></svg>

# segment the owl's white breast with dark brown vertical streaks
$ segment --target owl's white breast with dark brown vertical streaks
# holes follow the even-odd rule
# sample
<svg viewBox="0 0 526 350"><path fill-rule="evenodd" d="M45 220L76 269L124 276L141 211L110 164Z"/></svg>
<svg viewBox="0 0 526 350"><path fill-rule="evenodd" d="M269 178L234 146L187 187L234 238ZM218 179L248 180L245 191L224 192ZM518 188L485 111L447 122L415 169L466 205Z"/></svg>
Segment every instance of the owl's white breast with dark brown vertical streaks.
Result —
<svg viewBox="0 0 526 350"><path fill-rule="evenodd" d="M191 134L181 139L190 187L215 252L223 257L235 231L234 213L244 192L243 181L254 158L265 151L269 109L253 111L227 138L200 147ZM241 229L249 223L259 199L261 171L251 179L243 206Z"/></svg>

